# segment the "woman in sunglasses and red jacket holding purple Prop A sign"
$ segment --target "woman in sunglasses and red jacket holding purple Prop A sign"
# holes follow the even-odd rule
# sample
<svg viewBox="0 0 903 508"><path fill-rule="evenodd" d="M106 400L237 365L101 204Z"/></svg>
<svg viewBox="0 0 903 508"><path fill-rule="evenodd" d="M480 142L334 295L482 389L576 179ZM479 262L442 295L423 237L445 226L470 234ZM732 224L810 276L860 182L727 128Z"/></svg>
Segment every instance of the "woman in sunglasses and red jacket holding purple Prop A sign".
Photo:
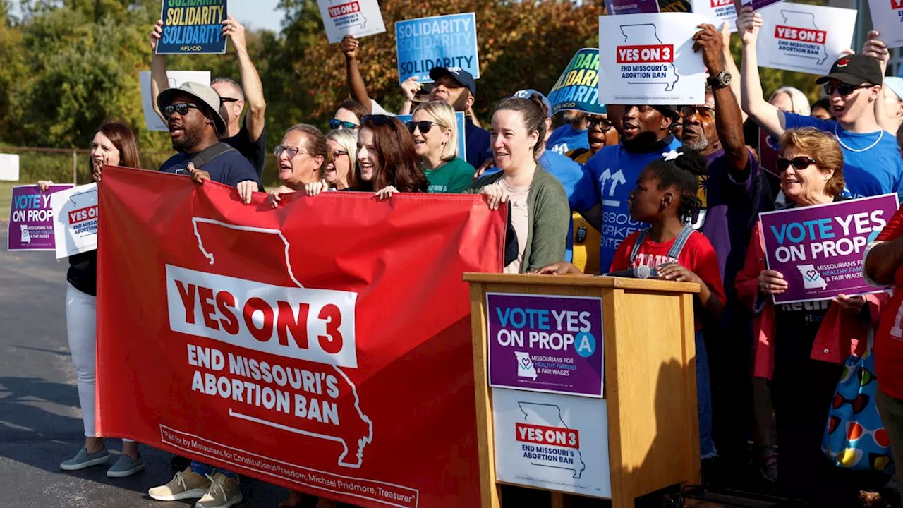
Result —
<svg viewBox="0 0 903 508"><path fill-rule="evenodd" d="M786 208L845 199L843 154L833 136L813 127L790 129L780 138L779 153ZM847 485L849 477L824 457L822 437L842 362L862 353L869 325L880 319L878 298L839 295L805 305L775 305L772 296L785 293L789 284L784 274L766 267L760 222L747 252L735 287L740 303L755 315L753 375L771 380L780 437L778 485L810 506L852 505L860 489ZM839 362L828 361L824 353L829 351ZM852 498L845 499L846 494Z"/></svg>

